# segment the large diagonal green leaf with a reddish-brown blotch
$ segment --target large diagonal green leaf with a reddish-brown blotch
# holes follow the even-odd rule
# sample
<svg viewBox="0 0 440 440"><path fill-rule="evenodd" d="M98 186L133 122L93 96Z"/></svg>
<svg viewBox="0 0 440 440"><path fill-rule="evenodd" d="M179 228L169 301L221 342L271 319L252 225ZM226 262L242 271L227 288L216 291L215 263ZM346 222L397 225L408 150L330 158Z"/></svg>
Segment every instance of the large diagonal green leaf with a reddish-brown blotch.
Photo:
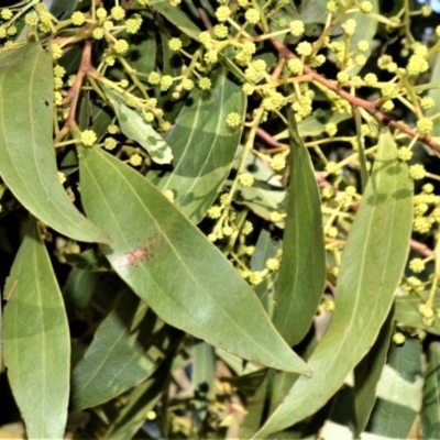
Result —
<svg viewBox="0 0 440 440"><path fill-rule="evenodd" d="M84 148L87 213L114 233L102 246L116 272L166 322L244 359L308 373L223 255L142 175Z"/></svg>

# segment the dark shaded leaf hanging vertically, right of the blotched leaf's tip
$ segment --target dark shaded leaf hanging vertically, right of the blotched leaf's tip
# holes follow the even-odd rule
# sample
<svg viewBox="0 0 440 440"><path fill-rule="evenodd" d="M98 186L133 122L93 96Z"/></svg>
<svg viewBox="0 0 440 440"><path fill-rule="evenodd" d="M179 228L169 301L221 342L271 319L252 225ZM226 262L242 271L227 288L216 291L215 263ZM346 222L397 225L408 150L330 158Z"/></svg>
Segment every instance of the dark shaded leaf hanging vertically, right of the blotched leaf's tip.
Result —
<svg viewBox="0 0 440 440"><path fill-rule="evenodd" d="M289 345L302 340L311 326L326 282L321 198L314 165L292 124L290 184L283 238L283 260L275 285L273 321Z"/></svg>

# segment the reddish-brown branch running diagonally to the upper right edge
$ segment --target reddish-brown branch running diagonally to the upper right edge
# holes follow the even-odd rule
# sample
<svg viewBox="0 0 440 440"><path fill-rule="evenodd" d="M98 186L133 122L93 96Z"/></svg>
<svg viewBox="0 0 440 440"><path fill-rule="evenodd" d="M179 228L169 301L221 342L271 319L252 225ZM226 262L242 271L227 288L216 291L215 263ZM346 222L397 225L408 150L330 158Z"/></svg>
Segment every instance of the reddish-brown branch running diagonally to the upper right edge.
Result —
<svg viewBox="0 0 440 440"><path fill-rule="evenodd" d="M283 56L287 59L297 58L297 56L292 51L289 51L276 37L272 37L271 43L278 51L278 56ZM348 91L340 88L338 86L337 81L324 78L322 75L319 75L317 72L315 72L309 66L305 65L304 72L307 75L309 75L312 78L312 80L321 84L327 89L334 91L341 98L349 101L352 106L366 110L371 116L373 116L378 122L383 123L384 125L400 130L402 132L408 134L408 136L410 136L410 138L418 136L421 142L429 145L431 148L440 152L440 144L437 143L436 141L433 141L432 136L421 136L419 133L417 133L415 130L410 129L409 127L406 127L406 125L402 124L400 122L397 122L396 120L389 118L386 113L384 113L383 111L381 111L377 108L375 102L367 101L365 99L358 98L355 96L350 95Z"/></svg>

